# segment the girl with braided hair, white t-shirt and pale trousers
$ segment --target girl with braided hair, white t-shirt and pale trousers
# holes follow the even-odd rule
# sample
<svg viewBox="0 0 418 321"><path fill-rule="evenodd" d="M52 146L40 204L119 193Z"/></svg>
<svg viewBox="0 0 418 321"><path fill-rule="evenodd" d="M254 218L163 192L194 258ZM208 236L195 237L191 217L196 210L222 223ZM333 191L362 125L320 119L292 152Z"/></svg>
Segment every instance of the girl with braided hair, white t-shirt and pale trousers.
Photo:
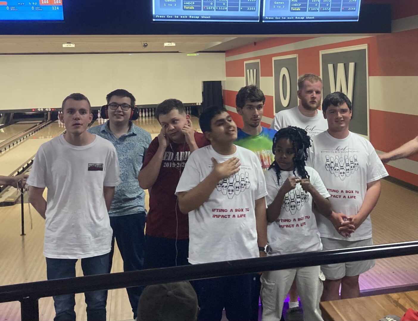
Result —
<svg viewBox="0 0 418 321"><path fill-rule="evenodd" d="M332 210L327 200L330 195L318 172L305 164L310 146L310 137L298 127L282 128L273 138L275 160L265 172L269 255L322 250L312 205L327 217ZM263 273L263 321L280 320L293 280L303 305L303 319L323 321L319 309L322 276L320 266Z"/></svg>

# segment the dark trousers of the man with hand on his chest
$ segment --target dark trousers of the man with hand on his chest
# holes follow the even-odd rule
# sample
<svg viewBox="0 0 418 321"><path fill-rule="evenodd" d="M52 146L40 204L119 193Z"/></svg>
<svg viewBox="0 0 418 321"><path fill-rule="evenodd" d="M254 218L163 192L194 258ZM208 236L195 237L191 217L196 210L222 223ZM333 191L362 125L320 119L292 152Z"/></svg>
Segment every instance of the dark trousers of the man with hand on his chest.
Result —
<svg viewBox="0 0 418 321"><path fill-rule="evenodd" d="M251 274L191 281L199 299L198 321L220 321L224 308L229 321L250 321L253 278Z"/></svg>

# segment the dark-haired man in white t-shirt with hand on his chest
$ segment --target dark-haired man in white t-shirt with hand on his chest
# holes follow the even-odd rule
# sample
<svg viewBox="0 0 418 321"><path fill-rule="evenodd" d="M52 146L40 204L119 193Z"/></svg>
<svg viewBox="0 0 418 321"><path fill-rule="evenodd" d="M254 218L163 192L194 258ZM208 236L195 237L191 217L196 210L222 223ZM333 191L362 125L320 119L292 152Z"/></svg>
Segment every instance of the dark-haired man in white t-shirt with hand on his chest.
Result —
<svg viewBox="0 0 418 321"><path fill-rule="evenodd" d="M189 263L265 256L267 190L260 160L233 144L237 126L224 107L211 107L199 124L212 143L191 154L178 182L181 212L189 213ZM194 282L199 321L251 319L252 275Z"/></svg>

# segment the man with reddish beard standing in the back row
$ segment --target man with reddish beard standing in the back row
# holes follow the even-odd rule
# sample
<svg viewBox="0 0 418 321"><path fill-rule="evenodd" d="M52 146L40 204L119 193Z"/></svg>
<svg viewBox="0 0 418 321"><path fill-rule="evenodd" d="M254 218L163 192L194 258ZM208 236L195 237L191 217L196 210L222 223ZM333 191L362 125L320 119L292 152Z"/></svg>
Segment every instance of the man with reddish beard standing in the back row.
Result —
<svg viewBox="0 0 418 321"><path fill-rule="evenodd" d="M311 138L326 131L328 124L318 108L322 99L322 79L313 73L298 78L299 106L279 111L270 128L279 130L288 126L305 129Z"/></svg>

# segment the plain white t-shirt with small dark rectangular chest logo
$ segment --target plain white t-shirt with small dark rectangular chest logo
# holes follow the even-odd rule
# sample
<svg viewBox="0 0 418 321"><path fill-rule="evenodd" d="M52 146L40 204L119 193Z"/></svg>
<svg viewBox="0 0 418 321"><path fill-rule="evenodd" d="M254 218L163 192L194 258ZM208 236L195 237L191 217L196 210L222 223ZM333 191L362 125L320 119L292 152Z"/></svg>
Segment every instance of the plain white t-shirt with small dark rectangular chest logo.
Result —
<svg viewBox="0 0 418 321"><path fill-rule="evenodd" d="M86 146L58 136L36 153L28 185L46 187L43 255L89 258L110 252L112 228L103 186L117 186L119 163L112 143L96 136Z"/></svg>

